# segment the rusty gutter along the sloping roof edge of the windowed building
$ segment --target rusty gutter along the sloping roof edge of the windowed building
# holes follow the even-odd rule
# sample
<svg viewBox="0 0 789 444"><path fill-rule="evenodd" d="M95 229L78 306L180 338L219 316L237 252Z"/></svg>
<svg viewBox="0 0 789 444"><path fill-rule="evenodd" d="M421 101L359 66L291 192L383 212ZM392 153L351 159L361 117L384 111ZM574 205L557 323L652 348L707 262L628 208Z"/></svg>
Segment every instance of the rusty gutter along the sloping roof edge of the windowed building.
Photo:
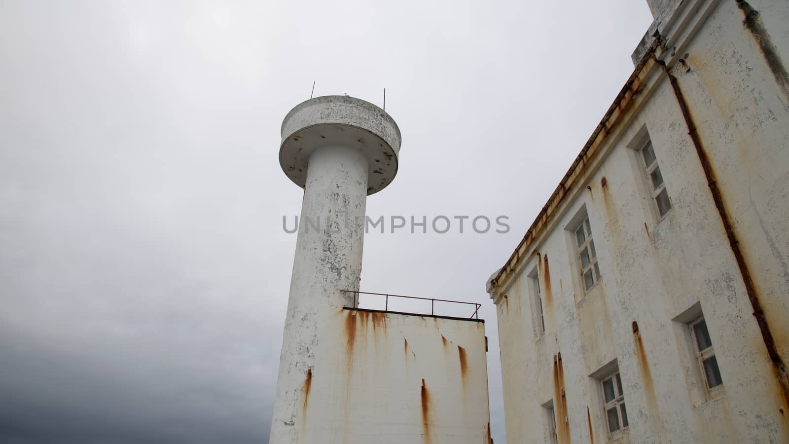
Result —
<svg viewBox="0 0 789 444"><path fill-rule="evenodd" d="M522 258L522 256L519 253L520 250L522 249L523 246L528 246L531 242L533 242L534 233L537 232L540 223L543 222L543 218L545 219L544 222L548 222L548 219L553 214L553 212L549 212L549 209L552 206L558 205L559 202L561 202L564 196L567 194L567 190L570 190L570 188L573 185L570 179L573 177L574 172L578 170L578 168L585 167L585 164L587 162L587 160L585 160L585 156L589 152L589 149L593 147L600 133L602 132L604 134L604 137L607 137L608 134L611 132L611 130L614 129L614 127L616 126L615 122L612 122L610 126L608 125L608 121L611 119L611 115L614 114L614 112L619 107L619 105L623 102L623 100L630 99L633 96L635 96L637 91L633 90L632 88L633 83L638 78L638 75L641 74L641 71L644 70L645 66L647 65L647 62L650 62L652 60L656 48L659 46L659 44L660 44L659 39L653 41L652 45L646 51L645 55L641 58L641 61L638 62L638 65L635 67L635 70L633 70L633 73L630 74L630 77L627 79L625 85L619 91L619 94L616 96L614 103L611 103L611 107L608 107L608 111L606 111L603 119L600 120L600 123L595 128L594 132L592 133L592 136L589 137L588 141L586 141L586 144L581 149L581 152L578 153L578 156L573 161L573 164L570 165L570 169L567 170L567 173L565 173L562 180L559 182L559 186L556 186L556 189L551 194L551 197L548 198L548 202L545 204L545 206L542 209L540 209L540 213L537 214L537 218L532 222L529 229L526 230L525 235L523 235L523 239L521 239L521 241L518 243L518 246L515 248L513 254L510 254L510 258L507 259L507 262L504 264L504 266L501 269L499 269L499 273L496 273L495 277L491 280L493 286L497 286L499 284L499 279L505 273L509 272L510 265L512 268L514 268L514 265L518 264L520 258Z"/></svg>

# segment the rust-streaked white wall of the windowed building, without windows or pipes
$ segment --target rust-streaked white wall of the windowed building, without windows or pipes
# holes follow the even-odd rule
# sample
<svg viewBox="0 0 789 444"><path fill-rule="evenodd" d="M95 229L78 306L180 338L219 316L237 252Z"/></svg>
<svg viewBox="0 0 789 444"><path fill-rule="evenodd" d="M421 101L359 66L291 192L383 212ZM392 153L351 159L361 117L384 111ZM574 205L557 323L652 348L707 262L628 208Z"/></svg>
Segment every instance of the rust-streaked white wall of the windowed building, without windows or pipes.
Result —
<svg viewBox="0 0 789 444"><path fill-rule="evenodd" d="M708 152L780 354L789 360L789 96L756 37L743 27L737 3L698 3L712 9L682 46L690 70L671 70ZM778 53L789 62L789 3L751 5L761 10ZM632 149L644 130L673 205L663 219L656 216ZM789 442L787 399L660 66L604 143L585 177L568 190L558 216L537 233L518 270L492 294L508 442L551 442L541 407L551 400L559 442ZM603 276L589 292L566 229L582 208ZM544 293L542 336L534 326L528 277L533 269ZM724 381L715 393L703 386L690 337L677 318L696 303ZM630 419L629 430L615 439L608 436L593 378L613 360Z"/></svg>

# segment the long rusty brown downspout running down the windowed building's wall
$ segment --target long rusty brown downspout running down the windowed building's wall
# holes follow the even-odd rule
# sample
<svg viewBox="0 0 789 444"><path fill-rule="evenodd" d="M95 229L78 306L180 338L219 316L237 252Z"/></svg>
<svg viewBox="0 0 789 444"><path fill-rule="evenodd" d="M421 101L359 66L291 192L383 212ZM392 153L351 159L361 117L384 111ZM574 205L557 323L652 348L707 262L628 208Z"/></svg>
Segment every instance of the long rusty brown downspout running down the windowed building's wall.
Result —
<svg viewBox="0 0 789 444"><path fill-rule="evenodd" d="M688 108L687 102L685 101L685 96L682 95L682 89L679 88L677 77L674 77L674 74L672 74L671 70L668 69L666 62L657 58L656 55L653 55L653 58L658 65L663 67L664 72L668 76L668 81L671 83L671 88L674 90L674 95L676 96L677 102L679 103L679 109L682 111L682 117L685 119L685 124L688 127L688 135L690 135L690 140L693 141L693 145L696 148L696 153L698 155L698 160L701 163L701 168L704 170L704 175L707 179L707 185L709 186L709 192L712 194L712 201L715 202L715 207L718 209L720 220L724 224L724 230L726 231L726 236L729 240L731 252L735 255L737 266L739 268L740 274L742 275L742 283L745 284L748 300L750 301L750 306L753 308L753 316L756 318L757 325L759 325L761 338L765 341L767 354L770 357L773 371L776 372L776 377L778 378L781 391L783 392L783 399L787 402L787 405L789 405L789 376L787 376L787 365L783 362L783 359L781 359L778 349L776 348L776 342L772 337L770 326L767 323L767 318L765 318L765 312L761 309L761 303L757 297L756 287L753 285L753 279L750 277L750 271L748 270L745 257L742 255L742 251L739 248L739 240L737 239L734 227L731 224L731 220L729 219L728 213L726 211L724 198L720 194L720 189L718 188L718 184L715 180L715 173L712 171L712 166L709 164L709 157L707 156L707 152L705 152L704 147L701 145L701 138L699 137L698 131L696 130L693 116L690 115L690 109Z"/></svg>

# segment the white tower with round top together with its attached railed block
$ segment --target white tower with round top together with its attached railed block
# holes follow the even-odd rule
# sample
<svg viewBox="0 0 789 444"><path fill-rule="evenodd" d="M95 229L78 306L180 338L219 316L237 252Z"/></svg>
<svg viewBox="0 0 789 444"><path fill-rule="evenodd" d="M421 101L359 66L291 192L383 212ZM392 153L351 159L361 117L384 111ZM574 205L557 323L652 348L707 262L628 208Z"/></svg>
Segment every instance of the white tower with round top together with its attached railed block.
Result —
<svg viewBox="0 0 789 444"><path fill-rule="evenodd" d="M420 315L359 292L366 199L394 179L400 141L385 111L348 96L282 122L280 164L305 192L271 444L490 442L479 304L472 318Z"/></svg>

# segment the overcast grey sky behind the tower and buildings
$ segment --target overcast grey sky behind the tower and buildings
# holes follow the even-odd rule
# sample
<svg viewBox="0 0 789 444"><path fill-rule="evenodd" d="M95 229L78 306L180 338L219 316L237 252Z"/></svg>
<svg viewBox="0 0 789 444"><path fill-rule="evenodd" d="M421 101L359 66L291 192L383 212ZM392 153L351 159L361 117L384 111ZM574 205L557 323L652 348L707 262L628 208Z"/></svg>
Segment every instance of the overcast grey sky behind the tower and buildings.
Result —
<svg viewBox="0 0 789 444"><path fill-rule="evenodd" d="M493 437L507 260L633 70L645 0L0 0L0 441L264 443L301 190L297 103L348 93L402 130L361 289L483 304ZM510 444L517 444L511 443Z"/></svg>

